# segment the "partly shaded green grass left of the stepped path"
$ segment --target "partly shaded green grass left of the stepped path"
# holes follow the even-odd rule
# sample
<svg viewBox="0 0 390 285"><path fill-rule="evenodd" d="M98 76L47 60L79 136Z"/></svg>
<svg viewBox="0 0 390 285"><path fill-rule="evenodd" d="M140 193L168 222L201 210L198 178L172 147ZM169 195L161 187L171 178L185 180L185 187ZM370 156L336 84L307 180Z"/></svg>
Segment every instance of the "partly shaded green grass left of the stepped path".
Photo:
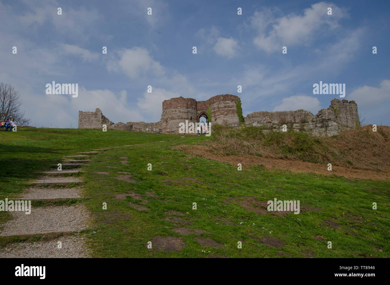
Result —
<svg viewBox="0 0 390 285"><path fill-rule="evenodd" d="M18 132L0 131L0 195L20 192L24 181L62 162L67 155L94 148L163 141L178 135L154 135L139 132L103 132L102 130L18 128Z"/></svg>

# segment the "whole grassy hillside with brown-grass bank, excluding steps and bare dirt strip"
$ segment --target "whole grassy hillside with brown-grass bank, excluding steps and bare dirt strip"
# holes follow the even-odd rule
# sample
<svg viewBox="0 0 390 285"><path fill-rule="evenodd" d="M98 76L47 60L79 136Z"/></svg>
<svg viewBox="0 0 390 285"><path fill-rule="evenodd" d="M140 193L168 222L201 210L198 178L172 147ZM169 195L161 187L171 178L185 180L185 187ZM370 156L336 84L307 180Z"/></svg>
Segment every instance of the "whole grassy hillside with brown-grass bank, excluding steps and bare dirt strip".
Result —
<svg viewBox="0 0 390 285"><path fill-rule="evenodd" d="M388 165L380 157L367 160L369 150L381 153L388 148L388 129L382 128L374 137L363 128L361 134L346 132L328 139L264 135L257 128L217 128L211 137L18 128L16 133L0 133L0 199L18 197L23 181L36 178L65 155L130 145L105 150L83 165L78 175L89 199L67 201L84 203L90 210L92 222L82 234L92 257L389 257L388 181L262 165L238 171L236 165L187 151L200 144L221 156L249 153L331 160L335 165L350 160L350 167L374 170ZM274 198L299 200L300 214L268 212L267 201ZM372 209L373 202L378 209ZM0 212L0 219L6 221L7 215ZM33 240L47 238L36 235ZM31 239L0 237L0 246ZM148 241L153 249L147 248ZM160 250L164 244L172 251Z"/></svg>

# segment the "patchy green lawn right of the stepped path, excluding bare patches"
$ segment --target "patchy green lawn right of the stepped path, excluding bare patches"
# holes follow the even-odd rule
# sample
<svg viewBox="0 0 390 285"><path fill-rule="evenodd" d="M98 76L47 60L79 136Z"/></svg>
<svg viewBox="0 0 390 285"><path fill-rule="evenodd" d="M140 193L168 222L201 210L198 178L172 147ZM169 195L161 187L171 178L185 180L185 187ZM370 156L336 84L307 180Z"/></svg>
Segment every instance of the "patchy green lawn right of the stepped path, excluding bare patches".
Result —
<svg viewBox="0 0 390 285"><path fill-rule="evenodd" d="M164 142L153 148L143 145L108 150L95 158L96 163L85 168L84 189L90 197L87 204L97 222L94 229L97 233L91 236L90 244L97 248L94 252L96 257L207 255L202 253L204 248L195 241L195 234L183 237L186 247L180 252L156 252L146 248L147 242L155 236L180 237L172 229L181 225L163 220L165 211L169 210L184 214L188 212L182 218L193 224L187 227L208 231L200 236L213 239L225 247L207 248L207 251L211 250L208 254L229 257L305 257L305 252L311 252L316 257L358 257L359 254L389 256L389 183L349 181L289 171L265 171L261 166L237 171L237 167L232 165L198 157L188 158L184 153L166 147L177 143ZM129 166L113 163L122 156L129 158ZM188 167L177 159L190 165L191 170L188 171ZM147 171L148 163L152 164L152 171ZM107 165L120 169L107 168ZM108 171L110 176L95 174L95 171ZM117 176L118 171L130 172L137 183L110 178ZM183 181L182 177L193 177L199 182L185 180L190 185L180 185L161 181ZM151 190L158 195L157 199L145 195L145 192ZM129 202L139 204L132 197L118 200L114 196L127 191L147 199L145 206L149 210L137 211L128 206ZM321 210L303 211L300 215L288 214L284 217L273 213L257 215L234 201L224 201L227 197L240 196L252 196L259 201L297 199L301 204L309 204ZM107 210L102 209L103 202L107 203ZM197 210L192 210L193 202L197 203ZM380 209L372 210L372 202L380 204ZM363 221L357 222L352 216L362 217ZM221 223L218 218L228 220L230 225ZM324 221L333 218L339 219L335 221L340 229L326 228ZM240 225L240 222L243 224ZM252 239L263 235L277 237L285 246L266 247ZM312 235L324 236L324 241L317 241ZM243 242L240 250L237 248L238 241ZM328 241L332 241L332 249L327 248Z"/></svg>

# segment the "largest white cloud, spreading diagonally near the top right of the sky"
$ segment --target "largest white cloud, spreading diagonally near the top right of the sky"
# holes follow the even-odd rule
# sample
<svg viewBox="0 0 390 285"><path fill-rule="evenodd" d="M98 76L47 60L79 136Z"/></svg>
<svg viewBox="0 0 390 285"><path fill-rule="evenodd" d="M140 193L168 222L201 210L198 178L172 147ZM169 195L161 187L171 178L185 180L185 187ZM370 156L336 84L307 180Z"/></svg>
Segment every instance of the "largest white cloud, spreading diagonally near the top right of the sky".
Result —
<svg viewBox="0 0 390 285"><path fill-rule="evenodd" d="M328 7L332 7L332 15L327 14ZM325 2L311 5L303 11L303 16L289 14L276 18L269 9L255 12L254 16L250 17L250 25L258 31L253 42L268 53L280 51L282 46L308 44L315 37L321 36L322 31L329 33L337 28L339 19L346 16L345 9ZM268 26L272 23L269 30Z"/></svg>

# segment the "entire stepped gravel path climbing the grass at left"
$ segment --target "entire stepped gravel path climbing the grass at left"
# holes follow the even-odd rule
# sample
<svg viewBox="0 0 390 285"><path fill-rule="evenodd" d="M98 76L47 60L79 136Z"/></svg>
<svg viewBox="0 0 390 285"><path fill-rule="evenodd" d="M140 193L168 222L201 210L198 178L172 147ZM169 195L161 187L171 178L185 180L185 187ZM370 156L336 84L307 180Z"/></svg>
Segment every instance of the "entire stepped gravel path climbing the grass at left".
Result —
<svg viewBox="0 0 390 285"><path fill-rule="evenodd" d="M97 153L97 151L87 151L84 153ZM90 157L91 155L74 155L73 157ZM90 160L74 160L64 158L62 166L83 165ZM55 165L57 166L57 165ZM77 169L64 169L57 171L53 169L43 173L76 173ZM77 177L41 177L29 183L75 183L82 182ZM81 198L80 188L51 188L51 187L31 187L21 194L20 200L34 199L64 199ZM73 206L47 206L31 208L29 215L25 211L9 212L12 219L2 225L0 236L15 236L27 234L46 234L50 232L80 232L89 226L89 210L83 204ZM62 248L58 248L58 241ZM0 248L0 258L86 258L90 257L91 250L85 246L85 237L65 234L49 241L38 241L36 243L14 243L8 244L5 248Z"/></svg>

